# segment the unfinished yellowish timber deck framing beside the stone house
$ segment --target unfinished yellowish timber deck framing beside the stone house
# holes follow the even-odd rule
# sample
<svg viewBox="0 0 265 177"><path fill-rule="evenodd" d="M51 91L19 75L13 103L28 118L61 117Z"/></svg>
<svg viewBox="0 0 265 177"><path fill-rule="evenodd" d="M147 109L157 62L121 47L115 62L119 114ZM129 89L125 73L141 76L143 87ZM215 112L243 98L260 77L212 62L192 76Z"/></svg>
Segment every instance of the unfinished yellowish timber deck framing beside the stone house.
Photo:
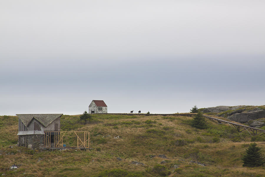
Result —
<svg viewBox="0 0 265 177"><path fill-rule="evenodd" d="M63 141L66 137L76 137L76 146L69 146ZM75 138L74 138L75 139ZM65 143L65 144L64 144ZM90 148L90 132L79 131L60 131L60 132L44 132L44 149L64 149L64 148Z"/></svg>

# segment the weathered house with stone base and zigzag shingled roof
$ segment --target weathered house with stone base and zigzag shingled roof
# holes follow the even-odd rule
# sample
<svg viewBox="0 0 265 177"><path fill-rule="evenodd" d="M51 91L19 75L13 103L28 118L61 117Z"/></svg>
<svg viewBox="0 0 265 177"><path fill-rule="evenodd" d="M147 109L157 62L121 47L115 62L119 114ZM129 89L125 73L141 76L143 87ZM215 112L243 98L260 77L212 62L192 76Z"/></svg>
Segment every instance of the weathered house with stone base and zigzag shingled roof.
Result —
<svg viewBox="0 0 265 177"><path fill-rule="evenodd" d="M44 148L44 132L53 132L47 137L52 143L54 132L60 131L63 114L16 114L18 117L18 146ZM54 143L54 142L53 142Z"/></svg>

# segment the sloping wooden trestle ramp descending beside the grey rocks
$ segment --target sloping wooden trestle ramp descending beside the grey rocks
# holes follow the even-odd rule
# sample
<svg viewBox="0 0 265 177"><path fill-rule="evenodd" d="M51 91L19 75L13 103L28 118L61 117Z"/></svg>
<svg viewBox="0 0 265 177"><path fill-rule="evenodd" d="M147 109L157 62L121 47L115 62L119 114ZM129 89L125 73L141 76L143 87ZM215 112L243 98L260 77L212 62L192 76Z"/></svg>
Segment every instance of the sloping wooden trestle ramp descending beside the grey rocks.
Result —
<svg viewBox="0 0 265 177"><path fill-rule="evenodd" d="M241 125L241 124L237 124L237 123L233 123L233 122L228 122L226 120L217 119L217 118L206 116L206 115L203 115L203 116L207 117L208 119L212 119L212 120L217 121L218 124L229 124L230 126L233 125L233 127L235 127L238 130L238 132L243 132L244 130L246 130L246 131L249 132L249 134L251 136L264 135L265 134L265 130L262 130L262 129L259 129L259 128L254 128L254 127L249 127L249 126L246 126L246 125Z"/></svg>

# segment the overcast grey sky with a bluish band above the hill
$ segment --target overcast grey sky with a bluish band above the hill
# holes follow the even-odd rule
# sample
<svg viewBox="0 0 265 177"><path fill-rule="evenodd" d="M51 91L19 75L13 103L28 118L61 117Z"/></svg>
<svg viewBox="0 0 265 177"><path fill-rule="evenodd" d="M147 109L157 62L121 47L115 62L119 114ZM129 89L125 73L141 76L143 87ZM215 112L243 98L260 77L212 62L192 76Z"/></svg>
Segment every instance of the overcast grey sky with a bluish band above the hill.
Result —
<svg viewBox="0 0 265 177"><path fill-rule="evenodd" d="M263 0L0 1L0 115L264 105Z"/></svg>

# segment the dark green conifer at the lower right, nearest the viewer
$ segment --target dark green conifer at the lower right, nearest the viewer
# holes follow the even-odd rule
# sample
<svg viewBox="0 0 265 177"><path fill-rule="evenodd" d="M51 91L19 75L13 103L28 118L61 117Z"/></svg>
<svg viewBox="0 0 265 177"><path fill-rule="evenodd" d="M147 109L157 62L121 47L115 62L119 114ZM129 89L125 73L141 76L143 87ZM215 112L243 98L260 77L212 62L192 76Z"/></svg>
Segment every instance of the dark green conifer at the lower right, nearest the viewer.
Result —
<svg viewBox="0 0 265 177"><path fill-rule="evenodd" d="M250 143L248 149L246 149L246 154L243 156L243 166L257 167L264 163L264 158L261 155L261 148L256 146L257 143Z"/></svg>

